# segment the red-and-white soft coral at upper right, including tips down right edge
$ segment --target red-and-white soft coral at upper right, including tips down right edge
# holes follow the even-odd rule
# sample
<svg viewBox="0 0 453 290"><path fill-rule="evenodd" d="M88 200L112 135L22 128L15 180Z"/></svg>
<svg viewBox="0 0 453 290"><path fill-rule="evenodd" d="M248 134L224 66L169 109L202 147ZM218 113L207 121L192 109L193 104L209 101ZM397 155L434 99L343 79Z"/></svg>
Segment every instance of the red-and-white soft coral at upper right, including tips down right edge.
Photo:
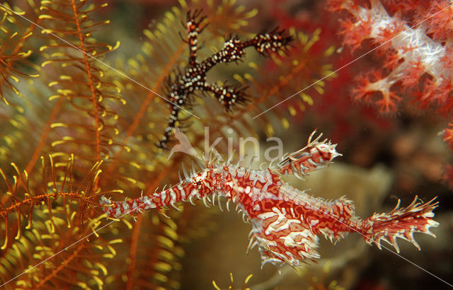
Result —
<svg viewBox="0 0 453 290"><path fill-rule="evenodd" d="M355 100L372 103L380 112L396 112L400 100L410 95L420 109L436 108L443 116L452 116L451 1L334 0L328 3L328 10L348 13L340 20L343 43L354 51L365 43L363 40L371 40L372 47L367 54L379 56L379 67L357 78L352 89ZM367 29L352 29L362 27ZM453 149L453 122L450 121L442 136ZM453 184L452 172L452 168L447 168L447 180Z"/></svg>

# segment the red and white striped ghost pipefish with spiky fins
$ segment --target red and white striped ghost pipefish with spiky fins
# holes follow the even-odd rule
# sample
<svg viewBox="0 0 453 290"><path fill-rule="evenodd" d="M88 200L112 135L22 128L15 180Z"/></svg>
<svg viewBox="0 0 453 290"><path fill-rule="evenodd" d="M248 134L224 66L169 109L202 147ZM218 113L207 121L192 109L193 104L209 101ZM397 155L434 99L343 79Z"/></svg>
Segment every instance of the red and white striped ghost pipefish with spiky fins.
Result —
<svg viewBox="0 0 453 290"><path fill-rule="evenodd" d="M388 214L374 214L368 219L355 215L355 206L345 197L333 201L313 197L298 190L281 179L287 174L306 174L326 168L333 158L341 154L336 144L327 139L319 141L321 135L299 151L289 153L277 166L264 170L244 168L229 161L208 160L190 175L183 169L184 179L168 189L125 202L112 202L103 197L105 212L118 217L131 211L175 207L178 202L202 199L205 204L217 202L220 197L234 202L245 220L252 224L251 241L248 248L258 245L262 264L277 266L287 263L293 267L320 257L317 252L319 236L339 240L347 233L359 233L367 243L382 247L381 240L398 251L396 238L418 244L413 233L430 233L430 227L438 226L434 221L437 202L414 201L399 208L399 202Z"/></svg>

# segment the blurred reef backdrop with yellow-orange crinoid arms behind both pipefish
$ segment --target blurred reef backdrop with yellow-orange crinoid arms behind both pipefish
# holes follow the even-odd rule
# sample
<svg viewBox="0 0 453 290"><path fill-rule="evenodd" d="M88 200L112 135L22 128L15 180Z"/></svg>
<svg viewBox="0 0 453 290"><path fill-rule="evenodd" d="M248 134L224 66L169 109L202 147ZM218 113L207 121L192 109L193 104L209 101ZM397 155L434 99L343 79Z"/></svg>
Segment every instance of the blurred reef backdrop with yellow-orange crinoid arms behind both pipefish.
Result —
<svg viewBox="0 0 453 290"><path fill-rule="evenodd" d="M253 274L247 283L251 289L447 286L352 234L337 245L323 241L315 265L297 271L285 266L281 275L271 265L260 269L258 250L246 255L250 225L234 211L207 209L202 202L180 205L183 211L166 210L171 219L158 211L140 214L137 221L125 217L108 224L101 218L100 195L119 200L154 192L177 182L182 161L193 162L183 153L166 160L168 152L154 145L166 127L166 102L118 73L164 92L165 77L187 63L188 48L178 33L185 33L180 22L188 8L203 8L210 23L200 36L205 42L201 55L222 47L230 33L250 37L279 25L294 35L286 56L268 59L247 52L244 62L210 72L212 80L248 86L252 98L234 112L224 112L212 98L199 98L193 112L201 119L191 118L185 129L195 149L204 149L205 126L211 140L231 138L238 149L239 137L258 137L265 149L270 146L265 139L274 136L282 139L285 151L304 146L317 128L338 143L343 156L292 185L328 199L348 195L362 217L391 210L397 199L407 205L414 195L425 202L437 196L440 226L432 229L437 238L417 236L420 252L401 240L400 255L452 283L453 192L446 174L452 151L439 134L451 114L420 108L411 98L394 113L352 100L357 76L382 55L368 54L252 120L373 47L370 41L352 52L343 44L338 20L347 16L328 11L332 2L107 1L108 6L89 11L101 1L8 1L117 71L2 10L0 88L8 105L0 105L0 168L10 186L0 178L0 237L6 240L1 282L62 251L6 289L213 289L212 280L224 289L231 285L230 272L236 288ZM78 26L74 19L84 21ZM226 153L226 141L216 148ZM84 238L95 229L97 235Z"/></svg>

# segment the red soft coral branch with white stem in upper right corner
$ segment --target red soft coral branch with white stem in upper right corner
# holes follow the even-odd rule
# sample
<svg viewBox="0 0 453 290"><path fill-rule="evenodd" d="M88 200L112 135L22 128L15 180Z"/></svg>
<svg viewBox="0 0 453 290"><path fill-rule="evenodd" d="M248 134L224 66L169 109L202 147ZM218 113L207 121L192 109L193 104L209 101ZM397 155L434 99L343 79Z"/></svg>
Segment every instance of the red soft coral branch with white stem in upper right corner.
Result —
<svg viewBox="0 0 453 290"><path fill-rule="evenodd" d="M444 1L432 1L428 13L417 14L418 17L414 20L416 25L405 20L406 14L413 13L413 7L398 6L394 2L384 7L379 0L369 2L369 7L360 6L352 0L330 2L331 10L345 9L350 13L351 17L342 21L343 30L340 33L345 35L344 42L352 50L363 40L369 39L382 53L393 54L384 63L385 68L390 68L389 73L382 71L382 77L375 81L360 79L360 95L365 97L369 93L380 93L382 98L374 100L379 110L396 111L401 96L396 94L392 86L398 83L401 90L412 91L420 80L425 81L421 76L426 74L431 79L428 83L430 89L423 94L416 94L421 95L418 100L422 105L445 103L447 95L452 91L452 66L447 65L446 57L451 41L450 37L445 37L446 33L432 37L432 31L439 25L439 21L435 19L449 18L449 10ZM440 12L439 9L445 10ZM393 16L389 15L389 10L394 12ZM438 14L430 17L434 13Z"/></svg>

